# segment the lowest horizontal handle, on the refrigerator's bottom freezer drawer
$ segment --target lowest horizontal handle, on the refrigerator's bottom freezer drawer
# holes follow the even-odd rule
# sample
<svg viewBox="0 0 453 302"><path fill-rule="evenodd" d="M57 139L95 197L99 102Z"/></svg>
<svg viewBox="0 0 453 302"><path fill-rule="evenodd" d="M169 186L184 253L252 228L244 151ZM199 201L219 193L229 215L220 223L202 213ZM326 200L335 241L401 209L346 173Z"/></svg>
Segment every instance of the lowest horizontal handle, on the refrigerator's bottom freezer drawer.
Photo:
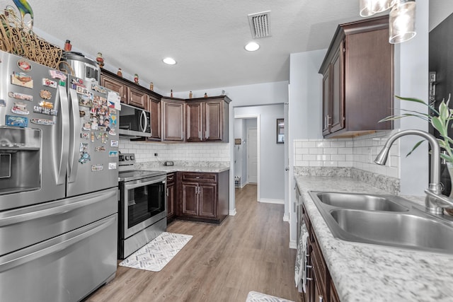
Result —
<svg viewBox="0 0 453 302"><path fill-rule="evenodd" d="M33 260L37 260L41 257L45 257L47 255L54 254L55 252L59 252L60 250L64 250L66 248L69 248L71 245L74 245L76 243L79 243L81 240L84 240L90 236L93 236L95 233L98 233L102 231L103 229L107 228L110 226L112 223L115 223L116 221L116 216L112 216L109 219L103 219L101 221L97 221L95 223L92 223L91 228L88 229L88 231L81 233L79 235L72 236L71 238L68 238L60 243L57 243L55 245L50 245L47 248L41 248L38 244L38 246L34 247L35 250L30 251L28 250L27 255L18 255L15 259L5 259L6 261L2 261L2 257L0 257L0 273L4 272L8 269L13 269L14 267L18 267L19 265L23 265L27 262L31 262ZM3 262L3 263L1 263Z"/></svg>

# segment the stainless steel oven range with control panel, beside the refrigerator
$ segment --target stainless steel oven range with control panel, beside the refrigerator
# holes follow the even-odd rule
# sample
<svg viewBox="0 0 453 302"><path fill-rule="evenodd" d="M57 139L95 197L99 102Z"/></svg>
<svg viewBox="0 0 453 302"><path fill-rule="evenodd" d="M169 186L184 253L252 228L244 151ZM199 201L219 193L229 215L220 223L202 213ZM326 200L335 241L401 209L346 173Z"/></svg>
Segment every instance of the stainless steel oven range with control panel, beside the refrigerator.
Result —
<svg viewBox="0 0 453 302"><path fill-rule="evenodd" d="M134 170L135 156L119 156L118 258L125 259L166 231L166 173Z"/></svg>

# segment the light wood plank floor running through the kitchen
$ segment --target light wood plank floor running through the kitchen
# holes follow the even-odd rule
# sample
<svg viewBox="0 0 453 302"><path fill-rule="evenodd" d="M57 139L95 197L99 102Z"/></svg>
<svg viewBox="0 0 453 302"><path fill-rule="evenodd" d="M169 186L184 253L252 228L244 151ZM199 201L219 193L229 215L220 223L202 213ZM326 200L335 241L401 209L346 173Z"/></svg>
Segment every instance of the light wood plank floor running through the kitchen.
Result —
<svg viewBox="0 0 453 302"><path fill-rule="evenodd" d="M219 226L173 221L168 232L193 238L161 272L118 267L86 301L244 302L249 291L300 301L283 205L256 202L256 185L247 185L236 189L236 210Z"/></svg>

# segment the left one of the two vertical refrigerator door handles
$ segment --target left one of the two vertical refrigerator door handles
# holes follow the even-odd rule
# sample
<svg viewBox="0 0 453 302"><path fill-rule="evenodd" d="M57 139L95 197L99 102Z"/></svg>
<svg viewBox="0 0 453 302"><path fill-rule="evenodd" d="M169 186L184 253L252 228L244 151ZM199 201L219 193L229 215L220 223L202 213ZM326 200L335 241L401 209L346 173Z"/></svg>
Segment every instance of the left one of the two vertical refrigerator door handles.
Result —
<svg viewBox="0 0 453 302"><path fill-rule="evenodd" d="M66 87L58 86L58 93L55 99L55 103L60 103L59 108L62 112L62 115L60 116L62 123L62 134L59 139L55 137L56 141L60 141L60 144L55 144L54 146L54 148L59 149L61 152L59 154L59 158L57 158L58 168L55 171L55 178L57 178L57 185L64 185L64 183L66 182L66 171L69 156L69 103ZM55 107L58 108L58 106Z"/></svg>

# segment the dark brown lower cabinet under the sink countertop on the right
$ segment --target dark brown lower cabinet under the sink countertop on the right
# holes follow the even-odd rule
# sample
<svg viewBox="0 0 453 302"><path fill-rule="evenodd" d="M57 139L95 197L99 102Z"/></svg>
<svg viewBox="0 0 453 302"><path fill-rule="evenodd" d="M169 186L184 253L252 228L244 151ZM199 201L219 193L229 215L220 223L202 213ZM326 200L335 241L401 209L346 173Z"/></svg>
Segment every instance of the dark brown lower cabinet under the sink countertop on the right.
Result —
<svg viewBox="0 0 453 302"><path fill-rule="evenodd" d="M324 261L321 248L319 248L318 239L311 226L311 221L306 209L302 206L304 221L309 232L307 239L307 284L306 293L304 294L305 302L339 302L335 285L331 279L331 274L328 272L328 267Z"/></svg>

